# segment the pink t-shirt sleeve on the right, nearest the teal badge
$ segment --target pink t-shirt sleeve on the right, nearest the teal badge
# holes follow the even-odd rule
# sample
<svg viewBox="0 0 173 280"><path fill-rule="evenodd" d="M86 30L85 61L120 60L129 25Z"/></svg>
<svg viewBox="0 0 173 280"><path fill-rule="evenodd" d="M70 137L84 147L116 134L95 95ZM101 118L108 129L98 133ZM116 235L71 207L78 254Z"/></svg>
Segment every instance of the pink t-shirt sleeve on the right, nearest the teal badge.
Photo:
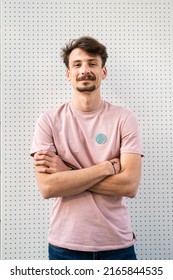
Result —
<svg viewBox="0 0 173 280"><path fill-rule="evenodd" d="M131 111L128 111L122 123L120 152L144 155L137 117Z"/></svg>

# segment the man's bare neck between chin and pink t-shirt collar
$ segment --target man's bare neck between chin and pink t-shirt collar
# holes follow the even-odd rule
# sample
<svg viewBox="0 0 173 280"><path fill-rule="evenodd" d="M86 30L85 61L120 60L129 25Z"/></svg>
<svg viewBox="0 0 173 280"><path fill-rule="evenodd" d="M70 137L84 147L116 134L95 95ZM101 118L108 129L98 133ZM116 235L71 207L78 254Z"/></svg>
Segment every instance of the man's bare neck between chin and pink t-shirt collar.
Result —
<svg viewBox="0 0 173 280"><path fill-rule="evenodd" d="M92 112L101 106L102 99L100 94L94 95L91 93L74 93L72 97L72 104L79 111Z"/></svg>

